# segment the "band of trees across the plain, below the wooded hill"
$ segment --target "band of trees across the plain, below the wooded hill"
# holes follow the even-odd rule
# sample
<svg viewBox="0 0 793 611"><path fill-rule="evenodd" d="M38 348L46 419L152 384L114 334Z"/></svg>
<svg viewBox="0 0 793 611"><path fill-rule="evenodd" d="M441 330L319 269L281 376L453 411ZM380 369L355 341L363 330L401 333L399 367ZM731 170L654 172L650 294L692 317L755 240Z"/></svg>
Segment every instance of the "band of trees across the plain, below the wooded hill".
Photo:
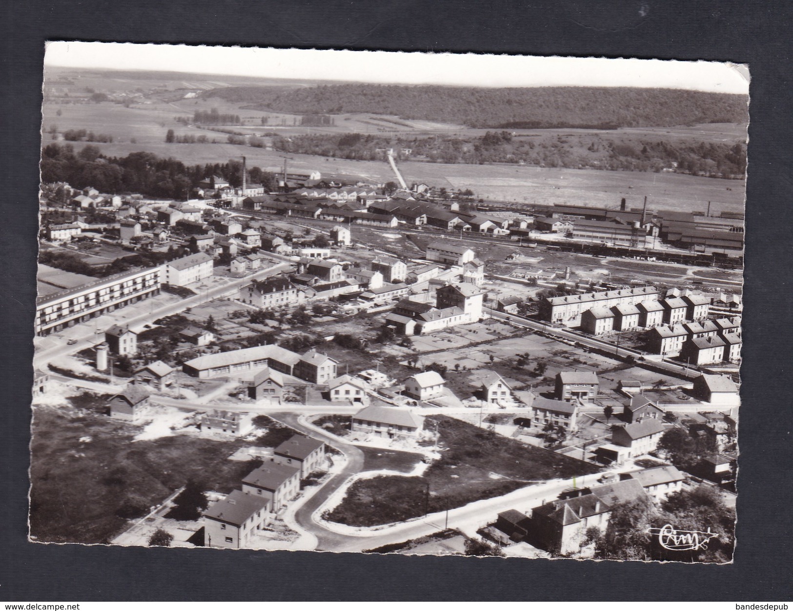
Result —
<svg viewBox="0 0 793 611"><path fill-rule="evenodd" d="M515 136L501 130L484 136L382 136L359 133L307 134L274 138L273 148L291 153L341 159L384 159L393 148L402 160L434 163L518 163L544 167L592 167L601 170L679 171L715 178L743 177L745 144L638 140L592 134Z"/></svg>

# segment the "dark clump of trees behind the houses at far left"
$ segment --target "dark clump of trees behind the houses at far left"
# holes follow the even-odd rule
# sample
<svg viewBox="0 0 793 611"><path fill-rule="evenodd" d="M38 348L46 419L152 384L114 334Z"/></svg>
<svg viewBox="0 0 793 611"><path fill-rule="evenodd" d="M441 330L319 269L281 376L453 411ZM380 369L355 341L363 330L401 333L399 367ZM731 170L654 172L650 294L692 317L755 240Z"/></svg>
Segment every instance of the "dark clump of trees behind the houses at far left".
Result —
<svg viewBox="0 0 793 611"><path fill-rule="evenodd" d="M68 183L75 189L93 186L101 193L139 193L152 198L186 200L198 182L217 175L232 186L242 185L242 162L186 166L150 152L132 152L125 157L103 156L98 147L86 144L75 152L72 144L47 144L41 151L41 182ZM248 168L249 183L266 190L278 188L278 180L260 167Z"/></svg>

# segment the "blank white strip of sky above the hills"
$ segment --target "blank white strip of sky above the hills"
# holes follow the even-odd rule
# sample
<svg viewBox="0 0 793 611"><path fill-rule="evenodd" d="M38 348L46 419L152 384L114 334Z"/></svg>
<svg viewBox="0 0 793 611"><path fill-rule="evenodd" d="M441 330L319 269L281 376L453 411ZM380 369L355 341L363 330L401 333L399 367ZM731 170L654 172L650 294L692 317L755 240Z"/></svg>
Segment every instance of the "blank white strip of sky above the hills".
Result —
<svg viewBox="0 0 793 611"><path fill-rule="evenodd" d="M45 66L456 86L639 86L749 93L745 65L676 60L495 56L53 41Z"/></svg>

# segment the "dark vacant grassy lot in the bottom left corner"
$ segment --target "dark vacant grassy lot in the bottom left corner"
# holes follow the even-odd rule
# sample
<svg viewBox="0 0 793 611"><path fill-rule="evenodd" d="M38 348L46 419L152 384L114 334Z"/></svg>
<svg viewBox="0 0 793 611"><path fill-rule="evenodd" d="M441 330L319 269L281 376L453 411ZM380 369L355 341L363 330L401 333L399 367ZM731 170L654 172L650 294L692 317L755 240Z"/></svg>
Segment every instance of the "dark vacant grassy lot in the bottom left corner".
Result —
<svg viewBox="0 0 793 611"><path fill-rule="evenodd" d="M177 435L132 442L140 429L108 417L36 408L30 534L105 543L189 480L229 493L259 463L228 460L245 443Z"/></svg>

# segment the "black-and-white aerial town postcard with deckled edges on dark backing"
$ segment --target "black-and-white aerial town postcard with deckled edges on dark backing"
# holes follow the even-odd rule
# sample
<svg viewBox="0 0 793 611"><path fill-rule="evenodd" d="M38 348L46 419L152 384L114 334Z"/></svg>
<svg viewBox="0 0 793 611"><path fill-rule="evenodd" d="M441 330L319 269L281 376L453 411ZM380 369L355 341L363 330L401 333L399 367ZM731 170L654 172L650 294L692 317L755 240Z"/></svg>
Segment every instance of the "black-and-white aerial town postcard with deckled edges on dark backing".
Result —
<svg viewBox="0 0 793 611"><path fill-rule="evenodd" d="M731 563L749 71L48 43L29 539Z"/></svg>

